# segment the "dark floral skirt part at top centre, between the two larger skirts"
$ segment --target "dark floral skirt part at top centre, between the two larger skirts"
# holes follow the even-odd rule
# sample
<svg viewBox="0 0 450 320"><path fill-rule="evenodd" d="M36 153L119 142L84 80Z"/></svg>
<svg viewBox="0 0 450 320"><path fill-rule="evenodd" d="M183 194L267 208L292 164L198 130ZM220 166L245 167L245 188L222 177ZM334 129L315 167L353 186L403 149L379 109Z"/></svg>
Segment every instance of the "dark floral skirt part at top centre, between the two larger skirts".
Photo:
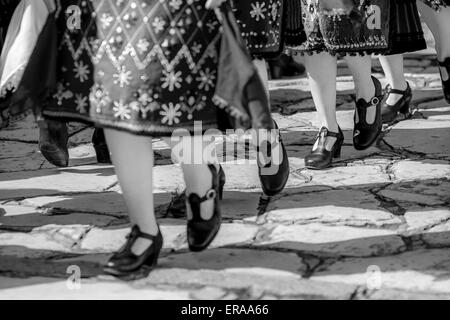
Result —
<svg viewBox="0 0 450 320"><path fill-rule="evenodd" d="M233 13L251 55L274 58L283 51L285 0L233 0Z"/></svg>

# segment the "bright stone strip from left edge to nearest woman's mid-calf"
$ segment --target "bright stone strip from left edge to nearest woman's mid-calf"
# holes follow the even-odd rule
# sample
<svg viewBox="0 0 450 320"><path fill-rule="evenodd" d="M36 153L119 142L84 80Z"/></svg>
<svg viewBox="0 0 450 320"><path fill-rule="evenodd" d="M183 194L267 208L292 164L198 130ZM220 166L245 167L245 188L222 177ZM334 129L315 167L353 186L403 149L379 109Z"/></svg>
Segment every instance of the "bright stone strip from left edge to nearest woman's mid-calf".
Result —
<svg viewBox="0 0 450 320"><path fill-rule="evenodd" d="M116 182L112 166L0 173L1 199L99 192Z"/></svg>

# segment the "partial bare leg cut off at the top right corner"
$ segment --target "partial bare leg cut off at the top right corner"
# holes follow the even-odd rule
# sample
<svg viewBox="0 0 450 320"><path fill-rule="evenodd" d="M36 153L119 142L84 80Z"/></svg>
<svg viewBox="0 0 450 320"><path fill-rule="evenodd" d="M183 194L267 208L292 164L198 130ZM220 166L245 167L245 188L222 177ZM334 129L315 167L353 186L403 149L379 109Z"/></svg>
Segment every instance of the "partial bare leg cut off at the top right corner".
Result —
<svg viewBox="0 0 450 320"><path fill-rule="evenodd" d="M422 1L418 1L420 14L436 40L436 51L439 61L450 57L450 7L436 12Z"/></svg>

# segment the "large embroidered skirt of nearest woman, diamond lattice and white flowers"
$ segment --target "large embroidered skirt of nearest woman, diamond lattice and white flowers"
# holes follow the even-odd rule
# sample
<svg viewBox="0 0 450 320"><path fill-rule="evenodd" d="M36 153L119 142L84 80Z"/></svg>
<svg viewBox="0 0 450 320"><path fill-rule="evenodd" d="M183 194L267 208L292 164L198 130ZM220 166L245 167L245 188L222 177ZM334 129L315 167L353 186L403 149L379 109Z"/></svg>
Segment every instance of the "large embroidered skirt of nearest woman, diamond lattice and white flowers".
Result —
<svg viewBox="0 0 450 320"><path fill-rule="evenodd" d="M40 113L150 136L235 124L213 102L221 26L205 2L61 0L57 89Z"/></svg>

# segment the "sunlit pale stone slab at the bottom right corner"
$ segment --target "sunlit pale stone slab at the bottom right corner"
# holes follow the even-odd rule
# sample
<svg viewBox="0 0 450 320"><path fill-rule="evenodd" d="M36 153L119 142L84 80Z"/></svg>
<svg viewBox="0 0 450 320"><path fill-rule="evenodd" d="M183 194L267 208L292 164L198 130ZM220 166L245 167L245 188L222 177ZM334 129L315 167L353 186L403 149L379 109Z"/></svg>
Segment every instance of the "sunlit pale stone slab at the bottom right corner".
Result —
<svg viewBox="0 0 450 320"><path fill-rule="evenodd" d="M450 293L450 250L418 250L389 257L345 259L311 279L366 286L368 268L381 270L381 289Z"/></svg>

